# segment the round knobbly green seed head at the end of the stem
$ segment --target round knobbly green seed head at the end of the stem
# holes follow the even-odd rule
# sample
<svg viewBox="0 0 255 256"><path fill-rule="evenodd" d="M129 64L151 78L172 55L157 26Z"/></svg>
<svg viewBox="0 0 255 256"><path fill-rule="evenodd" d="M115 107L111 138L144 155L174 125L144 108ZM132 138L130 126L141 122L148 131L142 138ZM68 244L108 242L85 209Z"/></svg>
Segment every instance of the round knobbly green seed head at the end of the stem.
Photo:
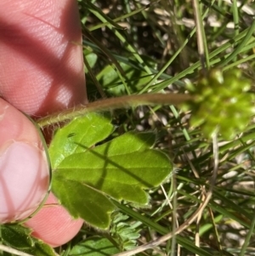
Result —
<svg viewBox="0 0 255 256"><path fill-rule="evenodd" d="M240 70L223 73L214 69L201 76L196 85L187 84L195 99L184 105L192 111L191 126L201 126L207 138L217 131L224 139L233 139L244 131L255 108L252 94L247 92L251 82L241 76Z"/></svg>

